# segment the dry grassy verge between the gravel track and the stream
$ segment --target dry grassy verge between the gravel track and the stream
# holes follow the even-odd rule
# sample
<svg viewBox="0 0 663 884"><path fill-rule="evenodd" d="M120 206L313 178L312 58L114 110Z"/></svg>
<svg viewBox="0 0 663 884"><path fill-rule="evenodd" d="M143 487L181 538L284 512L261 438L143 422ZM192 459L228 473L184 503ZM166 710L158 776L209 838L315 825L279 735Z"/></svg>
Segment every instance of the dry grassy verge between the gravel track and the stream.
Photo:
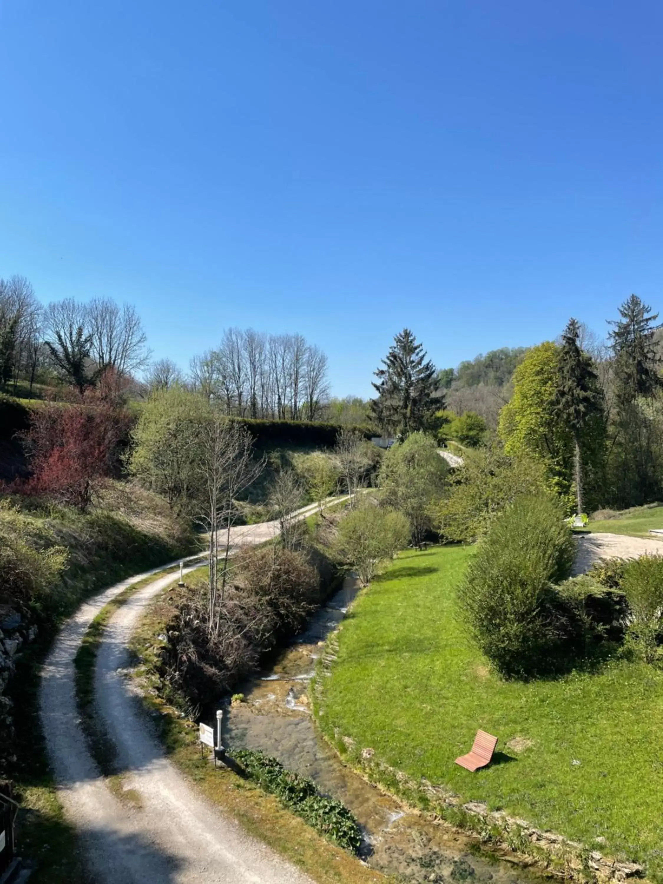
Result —
<svg viewBox="0 0 663 884"><path fill-rule="evenodd" d="M187 577L188 583L204 579L205 568ZM274 796L242 779L226 767L215 769L208 758L201 758L197 727L183 720L164 700L164 684L158 676L159 649L156 636L164 633L175 614L177 590L165 591L149 606L134 633L132 650L136 656L136 678L150 712L161 713L157 725L171 761L194 781L202 794L218 804L286 859L308 873L318 884L379 884L384 875L362 865L345 850L324 840ZM167 693L167 692L166 692Z"/></svg>

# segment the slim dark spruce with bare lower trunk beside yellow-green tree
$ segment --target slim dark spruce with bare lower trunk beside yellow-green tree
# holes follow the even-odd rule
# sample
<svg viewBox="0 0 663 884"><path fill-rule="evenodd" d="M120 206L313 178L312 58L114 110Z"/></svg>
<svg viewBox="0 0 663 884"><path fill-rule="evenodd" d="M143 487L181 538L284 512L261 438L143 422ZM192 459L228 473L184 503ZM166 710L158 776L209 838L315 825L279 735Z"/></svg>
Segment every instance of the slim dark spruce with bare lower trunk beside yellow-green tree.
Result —
<svg viewBox="0 0 663 884"><path fill-rule="evenodd" d="M583 512L583 442L596 442L605 428L603 392L598 383L591 356L580 347L580 324L568 320L561 336L559 381L555 392L555 408L561 423L573 438L574 482L577 512Z"/></svg>

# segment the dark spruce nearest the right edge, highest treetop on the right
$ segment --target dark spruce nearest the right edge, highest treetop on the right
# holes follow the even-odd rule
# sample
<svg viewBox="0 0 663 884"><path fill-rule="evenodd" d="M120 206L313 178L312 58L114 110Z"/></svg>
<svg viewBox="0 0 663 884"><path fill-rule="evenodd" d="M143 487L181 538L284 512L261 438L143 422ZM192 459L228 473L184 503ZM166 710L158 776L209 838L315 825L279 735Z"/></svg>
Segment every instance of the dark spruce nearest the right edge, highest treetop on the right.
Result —
<svg viewBox="0 0 663 884"><path fill-rule="evenodd" d="M632 294L621 305L621 319L610 322L613 331L614 393L618 407L651 396L663 384L659 377L660 359L654 345L658 313Z"/></svg>

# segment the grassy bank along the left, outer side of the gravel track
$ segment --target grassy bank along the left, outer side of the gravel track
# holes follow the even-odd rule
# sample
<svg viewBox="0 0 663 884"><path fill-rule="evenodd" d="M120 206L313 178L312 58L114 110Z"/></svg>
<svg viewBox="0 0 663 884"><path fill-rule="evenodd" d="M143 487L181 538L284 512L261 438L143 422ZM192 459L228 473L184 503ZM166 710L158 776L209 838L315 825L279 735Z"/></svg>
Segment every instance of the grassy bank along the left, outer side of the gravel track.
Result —
<svg viewBox="0 0 663 884"><path fill-rule="evenodd" d="M65 819L45 750L39 720L39 668L57 626L84 598L147 568L193 552L164 502L138 489L112 484L88 513L70 507L31 507L19 501L35 529L48 528L53 542L70 552L56 591L34 606L37 639L20 655L10 683L14 703L15 761L8 773L19 796L19 851L37 863L35 884L81 884L77 836Z"/></svg>

